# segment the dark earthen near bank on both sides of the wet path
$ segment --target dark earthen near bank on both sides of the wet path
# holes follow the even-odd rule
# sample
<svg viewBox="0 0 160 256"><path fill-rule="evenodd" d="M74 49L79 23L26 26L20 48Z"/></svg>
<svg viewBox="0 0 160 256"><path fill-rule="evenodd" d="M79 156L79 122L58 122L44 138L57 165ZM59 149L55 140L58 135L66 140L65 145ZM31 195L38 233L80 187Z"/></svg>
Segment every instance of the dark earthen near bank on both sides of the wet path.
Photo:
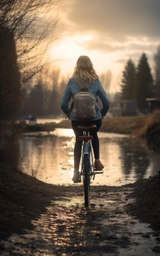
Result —
<svg viewBox="0 0 160 256"><path fill-rule="evenodd" d="M23 234L25 229L34 229L33 221L39 219L51 203L59 202L61 204L61 201L64 200L69 202L75 195L83 198L82 186L50 185L23 173L12 172L7 167L1 167L0 176L0 239L7 239L14 233ZM108 202L111 200L110 194L125 193L126 200L133 199L133 203L126 206L127 213L149 223L159 233L159 183L160 175L122 187L95 186L94 189L91 189L91 197L93 197L92 193L98 195L100 202L105 193ZM101 191L101 195L99 195L99 191ZM57 225L61 225L61 223Z"/></svg>

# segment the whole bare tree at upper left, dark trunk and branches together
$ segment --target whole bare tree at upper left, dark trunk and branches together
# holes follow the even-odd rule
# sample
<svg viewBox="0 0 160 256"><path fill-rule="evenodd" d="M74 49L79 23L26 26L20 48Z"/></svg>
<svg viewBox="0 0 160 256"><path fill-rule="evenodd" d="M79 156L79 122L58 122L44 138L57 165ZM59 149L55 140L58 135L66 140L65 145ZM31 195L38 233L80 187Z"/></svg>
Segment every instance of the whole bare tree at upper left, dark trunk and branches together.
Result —
<svg viewBox="0 0 160 256"><path fill-rule="evenodd" d="M60 1L0 1L1 119L18 115L27 81L43 67L45 51L55 39L54 11Z"/></svg>

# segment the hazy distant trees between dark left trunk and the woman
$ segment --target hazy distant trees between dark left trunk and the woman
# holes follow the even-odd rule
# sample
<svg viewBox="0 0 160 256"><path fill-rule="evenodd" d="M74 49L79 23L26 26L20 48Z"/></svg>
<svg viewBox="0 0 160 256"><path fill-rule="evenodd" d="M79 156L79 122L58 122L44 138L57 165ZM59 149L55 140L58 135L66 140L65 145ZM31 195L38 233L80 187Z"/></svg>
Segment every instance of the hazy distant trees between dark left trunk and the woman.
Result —
<svg viewBox="0 0 160 256"><path fill-rule="evenodd" d="M59 71L53 70L47 80L40 78L35 85L27 88L21 115L31 114L39 117L62 115L60 101L67 79L62 77L60 80Z"/></svg>

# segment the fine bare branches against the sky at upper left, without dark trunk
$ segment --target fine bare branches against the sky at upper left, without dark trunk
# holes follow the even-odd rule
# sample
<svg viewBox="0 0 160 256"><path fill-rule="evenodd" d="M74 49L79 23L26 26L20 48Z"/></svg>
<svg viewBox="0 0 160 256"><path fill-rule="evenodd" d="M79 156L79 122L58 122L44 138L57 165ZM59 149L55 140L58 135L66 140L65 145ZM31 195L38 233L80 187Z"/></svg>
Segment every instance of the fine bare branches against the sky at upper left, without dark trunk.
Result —
<svg viewBox="0 0 160 256"><path fill-rule="evenodd" d="M54 37L57 17L48 13L61 0L1 0L0 28L14 35L22 82L43 66L43 57ZM54 16L54 15L52 15Z"/></svg>

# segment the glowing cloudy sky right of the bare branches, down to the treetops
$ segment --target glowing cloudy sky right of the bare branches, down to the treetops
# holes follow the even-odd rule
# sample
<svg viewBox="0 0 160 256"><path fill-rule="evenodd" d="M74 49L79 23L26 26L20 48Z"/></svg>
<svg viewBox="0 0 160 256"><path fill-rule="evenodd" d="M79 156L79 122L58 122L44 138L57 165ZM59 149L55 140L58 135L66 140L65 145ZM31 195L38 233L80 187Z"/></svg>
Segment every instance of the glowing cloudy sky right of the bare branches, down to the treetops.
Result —
<svg viewBox="0 0 160 256"><path fill-rule="evenodd" d="M160 44L159 0L63 0L59 7L59 38L49 57L63 75L72 75L77 58L87 55L98 75L110 70L110 92L119 91L121 73L131 58L137 65Z"/></svg>

